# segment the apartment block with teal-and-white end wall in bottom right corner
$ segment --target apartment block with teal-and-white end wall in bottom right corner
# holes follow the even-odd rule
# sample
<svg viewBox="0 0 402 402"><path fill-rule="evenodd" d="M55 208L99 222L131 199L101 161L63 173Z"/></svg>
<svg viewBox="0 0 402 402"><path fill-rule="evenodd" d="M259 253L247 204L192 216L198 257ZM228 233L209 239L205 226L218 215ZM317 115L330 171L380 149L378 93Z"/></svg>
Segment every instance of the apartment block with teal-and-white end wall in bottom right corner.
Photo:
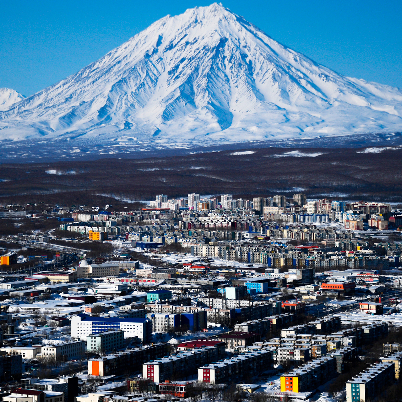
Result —
<svg viewBox="0 0 402 402"><path fill-rule="evenodd" d="M346 383L347 402L373 400L395 379L394 363L375 363Z"/></svg>

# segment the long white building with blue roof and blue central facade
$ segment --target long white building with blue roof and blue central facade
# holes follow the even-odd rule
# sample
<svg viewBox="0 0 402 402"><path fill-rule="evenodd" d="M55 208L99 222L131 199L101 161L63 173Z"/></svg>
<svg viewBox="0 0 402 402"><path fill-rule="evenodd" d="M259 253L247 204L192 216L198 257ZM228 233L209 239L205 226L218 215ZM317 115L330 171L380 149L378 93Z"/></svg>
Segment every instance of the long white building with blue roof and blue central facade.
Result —
<svg viewBox="0 0 402 402"><path fill-rule="evenodd" d="M90 334L109 330L123 330L125 338L137 336L148 342L152 336L152 322L147 318L90 317L77 314L71 318L71 336L86 340Z"/></svg>

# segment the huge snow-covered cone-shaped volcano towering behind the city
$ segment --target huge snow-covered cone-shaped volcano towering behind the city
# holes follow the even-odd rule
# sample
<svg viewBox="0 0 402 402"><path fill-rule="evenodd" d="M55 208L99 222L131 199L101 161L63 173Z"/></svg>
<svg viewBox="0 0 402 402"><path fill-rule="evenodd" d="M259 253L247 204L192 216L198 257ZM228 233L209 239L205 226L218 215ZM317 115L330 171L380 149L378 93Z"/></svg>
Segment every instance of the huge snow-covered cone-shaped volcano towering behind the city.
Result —
<svg viewBox="0 0 402 402"><path fill-rule="evenodd" d="M398 88L341 76L214 3L166 16L14 103L0 112L0 140L180 148L390 133L401 116Z"/></svg>

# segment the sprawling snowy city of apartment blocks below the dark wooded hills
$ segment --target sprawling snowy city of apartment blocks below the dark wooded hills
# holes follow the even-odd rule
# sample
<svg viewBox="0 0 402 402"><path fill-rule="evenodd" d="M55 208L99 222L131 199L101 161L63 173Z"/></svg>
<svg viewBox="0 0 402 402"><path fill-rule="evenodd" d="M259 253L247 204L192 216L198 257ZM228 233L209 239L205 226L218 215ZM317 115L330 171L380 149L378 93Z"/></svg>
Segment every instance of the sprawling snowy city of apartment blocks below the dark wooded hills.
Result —
<svg viewBox="0 0 402 402"><path fill-rule="evenodd" d="M0 205L2 398L398 400L398 207Z"/></svg>

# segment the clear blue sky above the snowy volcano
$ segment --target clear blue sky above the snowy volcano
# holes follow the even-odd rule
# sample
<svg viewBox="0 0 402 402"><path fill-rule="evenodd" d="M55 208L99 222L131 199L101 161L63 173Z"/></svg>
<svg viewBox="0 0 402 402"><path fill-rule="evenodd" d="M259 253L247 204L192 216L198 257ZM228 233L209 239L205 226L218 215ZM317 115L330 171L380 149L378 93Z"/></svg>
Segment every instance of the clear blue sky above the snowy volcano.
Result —
<svg viewBox="0 0 402 402"><path fill-rule="evenodd" d="M0 88L31 95L166 14L211 1L2 2ZM356 78L402 88L402 1L223 1L273 39Z"/></svg>

